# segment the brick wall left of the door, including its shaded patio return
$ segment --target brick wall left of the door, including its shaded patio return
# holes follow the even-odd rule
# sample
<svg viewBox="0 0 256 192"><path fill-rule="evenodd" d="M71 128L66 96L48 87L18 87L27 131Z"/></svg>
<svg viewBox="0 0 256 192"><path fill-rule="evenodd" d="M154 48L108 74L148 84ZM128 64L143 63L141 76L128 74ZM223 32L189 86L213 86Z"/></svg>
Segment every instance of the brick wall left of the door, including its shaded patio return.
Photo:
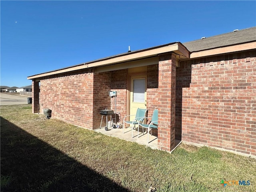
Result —
<svg viewBox="0 0 256 192"><path fill-rule="evenodd" d="M41 112L52 110L52 118L90 129L100 127L100 110L115 109L115 98L108 96L116 90L116 112L118 117L126 115L127 70L102 73L70 73L41 80ZM51 99L49 99L51 98ZM114 116L113 116L114 117ZM102 126L106 118L102 120Z"/></svg>

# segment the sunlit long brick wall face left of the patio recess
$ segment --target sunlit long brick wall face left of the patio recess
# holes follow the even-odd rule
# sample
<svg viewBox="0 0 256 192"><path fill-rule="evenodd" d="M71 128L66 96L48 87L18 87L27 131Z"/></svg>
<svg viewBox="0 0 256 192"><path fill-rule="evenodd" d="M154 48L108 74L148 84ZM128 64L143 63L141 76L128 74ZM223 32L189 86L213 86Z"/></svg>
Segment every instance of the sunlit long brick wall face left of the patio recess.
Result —
<svg viewBox="0 0 256 192"><path fill-rule="evenodd" d="M52 110L52 118L93 128L94 73L73 73L40 81L40 112Z"/></svg>

